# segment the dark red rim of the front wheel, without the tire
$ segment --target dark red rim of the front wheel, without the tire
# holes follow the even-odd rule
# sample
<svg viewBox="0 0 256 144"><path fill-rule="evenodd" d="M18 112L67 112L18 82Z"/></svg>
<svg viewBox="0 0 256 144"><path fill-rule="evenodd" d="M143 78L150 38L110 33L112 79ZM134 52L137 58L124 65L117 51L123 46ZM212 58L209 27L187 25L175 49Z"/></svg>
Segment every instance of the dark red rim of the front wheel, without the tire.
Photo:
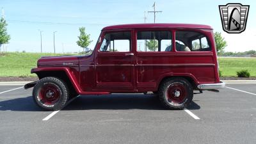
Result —
<svg viewBox="0 0 256 144"><path fill-rule="evenodd" d="M55 84L44 84L40 89L39 99L42 103L47 105L55 104L60 99L60 88Z"/></svg>

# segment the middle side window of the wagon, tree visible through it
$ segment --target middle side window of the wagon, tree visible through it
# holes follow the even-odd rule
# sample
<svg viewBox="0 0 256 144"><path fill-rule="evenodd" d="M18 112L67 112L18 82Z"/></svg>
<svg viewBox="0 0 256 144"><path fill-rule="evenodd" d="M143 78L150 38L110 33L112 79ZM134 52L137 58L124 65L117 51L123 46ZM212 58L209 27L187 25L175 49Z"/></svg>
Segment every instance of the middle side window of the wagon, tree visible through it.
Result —
<svg viewBox="0 0 256 144"><path fill-rule="evenodd" d="M138 31L137 51L172 51L171 31Z"/></svg>

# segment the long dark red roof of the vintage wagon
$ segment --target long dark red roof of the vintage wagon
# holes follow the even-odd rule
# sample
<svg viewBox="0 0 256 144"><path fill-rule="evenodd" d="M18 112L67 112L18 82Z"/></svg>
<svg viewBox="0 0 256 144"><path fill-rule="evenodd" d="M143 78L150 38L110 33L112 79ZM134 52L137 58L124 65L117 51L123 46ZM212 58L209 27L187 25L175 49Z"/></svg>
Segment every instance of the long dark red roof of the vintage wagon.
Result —
<svg viewBox="0 0 256 144"><path fill-rule="evenodd" d="M193 28L193 29L212 29L211 26L203 24L120 24L114 26L107 26L102 29L113 30L113 29L141 29L141 28Z"/></svg>

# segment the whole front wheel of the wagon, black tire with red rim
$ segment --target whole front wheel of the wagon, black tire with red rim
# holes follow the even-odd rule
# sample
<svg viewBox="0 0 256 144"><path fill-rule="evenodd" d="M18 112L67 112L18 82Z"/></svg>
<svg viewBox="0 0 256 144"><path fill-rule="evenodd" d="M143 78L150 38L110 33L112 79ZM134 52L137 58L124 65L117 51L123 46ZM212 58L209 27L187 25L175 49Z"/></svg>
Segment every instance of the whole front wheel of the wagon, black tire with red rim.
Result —
<svg viewBox="0 0 256 144"><path fill-rule="evenodd" d="M60 110L68 102L68 87L57 77L44 77L33 88L37 106L48 111Z"/></svg>

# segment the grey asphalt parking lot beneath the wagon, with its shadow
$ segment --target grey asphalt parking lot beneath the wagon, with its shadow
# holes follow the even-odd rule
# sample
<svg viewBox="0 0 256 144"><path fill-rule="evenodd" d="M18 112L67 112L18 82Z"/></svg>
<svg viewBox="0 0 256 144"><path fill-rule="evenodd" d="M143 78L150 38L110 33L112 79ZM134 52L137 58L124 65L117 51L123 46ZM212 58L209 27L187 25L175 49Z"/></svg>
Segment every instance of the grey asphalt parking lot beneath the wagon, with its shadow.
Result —
<svg viewBox="0 0 256 144"><path fill-rule="evenodd" d="M52 112L34 104L32 89L1 85L0 143L256 143L256 84L227 86L195 94L186 111L154 95L112 94Z"/></svg>

